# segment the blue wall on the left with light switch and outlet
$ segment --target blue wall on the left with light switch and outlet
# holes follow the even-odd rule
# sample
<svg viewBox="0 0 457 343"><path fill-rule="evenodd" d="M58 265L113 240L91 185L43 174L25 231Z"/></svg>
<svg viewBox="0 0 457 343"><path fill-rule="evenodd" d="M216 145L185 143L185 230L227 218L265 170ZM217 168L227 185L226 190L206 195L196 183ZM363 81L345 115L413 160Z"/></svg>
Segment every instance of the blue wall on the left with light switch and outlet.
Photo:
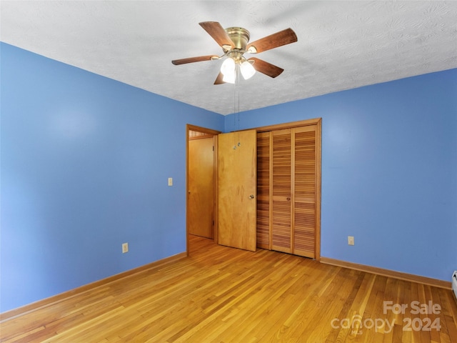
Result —
<svg viewBox="0 0 457 343"><path fill-rule="evenodd" d="M186 124L224 116L0 48L0 312L185 252Z"/></svg>

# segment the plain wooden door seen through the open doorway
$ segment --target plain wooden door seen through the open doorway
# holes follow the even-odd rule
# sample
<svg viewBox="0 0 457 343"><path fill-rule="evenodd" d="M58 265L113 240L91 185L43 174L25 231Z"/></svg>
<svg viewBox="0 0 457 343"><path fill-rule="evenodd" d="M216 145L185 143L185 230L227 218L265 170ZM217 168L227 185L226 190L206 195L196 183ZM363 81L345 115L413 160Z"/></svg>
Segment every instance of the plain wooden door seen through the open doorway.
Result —
<svg viewBox="0 0 457 343"><path fill-rule="evenodd" d="M189 140L189 234L214 238L214 139Z"/></svg>

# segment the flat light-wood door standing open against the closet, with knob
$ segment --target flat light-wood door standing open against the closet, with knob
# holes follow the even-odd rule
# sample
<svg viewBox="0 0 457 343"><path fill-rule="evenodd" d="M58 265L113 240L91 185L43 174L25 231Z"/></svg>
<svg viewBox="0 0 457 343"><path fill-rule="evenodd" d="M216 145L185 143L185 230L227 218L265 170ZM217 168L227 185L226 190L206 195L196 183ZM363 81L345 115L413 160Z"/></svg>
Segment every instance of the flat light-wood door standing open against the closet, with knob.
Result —
<svg viewBox="0 0 457 343"><path fill-rule="evenodd" d="M256 130L218 136L218 243L256 251Z"/></svg>

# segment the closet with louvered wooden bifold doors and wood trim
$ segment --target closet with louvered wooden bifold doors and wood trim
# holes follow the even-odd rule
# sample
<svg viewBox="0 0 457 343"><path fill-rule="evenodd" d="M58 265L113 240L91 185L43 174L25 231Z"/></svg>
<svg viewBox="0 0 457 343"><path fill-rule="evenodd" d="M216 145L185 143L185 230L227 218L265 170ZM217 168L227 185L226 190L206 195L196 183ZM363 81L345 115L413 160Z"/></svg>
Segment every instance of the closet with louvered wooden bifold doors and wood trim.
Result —
<svg viewBox="0 0 457 343"><path fill-rule="evenodd" d="M321 119L257 133L257 247L320 257Z"/></svg>

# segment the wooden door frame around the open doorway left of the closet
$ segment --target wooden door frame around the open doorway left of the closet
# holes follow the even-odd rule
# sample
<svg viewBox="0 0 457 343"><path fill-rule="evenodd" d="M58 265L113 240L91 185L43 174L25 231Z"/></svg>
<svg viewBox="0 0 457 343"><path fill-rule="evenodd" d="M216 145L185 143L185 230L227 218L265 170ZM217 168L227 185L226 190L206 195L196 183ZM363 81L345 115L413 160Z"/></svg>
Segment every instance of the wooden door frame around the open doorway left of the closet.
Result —
<svg viewBox="0 0 457 343"><path fill-rule="evenodd" d="M186 254L189 256L189 131L197 131L203 134L213 136L214 139L214 157L213 157L213 174L214 174L214 242L217 242L217 136L221 131L208 129L206 127L186 124Z"/></svg>

